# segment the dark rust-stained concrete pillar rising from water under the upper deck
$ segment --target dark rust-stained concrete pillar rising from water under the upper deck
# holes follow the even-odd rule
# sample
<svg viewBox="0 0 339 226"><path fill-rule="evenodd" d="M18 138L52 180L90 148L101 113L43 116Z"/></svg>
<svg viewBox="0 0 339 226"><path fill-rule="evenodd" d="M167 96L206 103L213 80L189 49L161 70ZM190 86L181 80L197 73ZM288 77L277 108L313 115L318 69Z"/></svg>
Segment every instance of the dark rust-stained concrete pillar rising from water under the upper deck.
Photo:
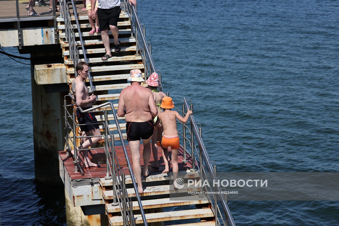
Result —
<svg viewBox="0 0 339 226"><path fill-rule="evenodd" d="M64 148L63 99L67 93L46 93L34 79L31 61L34 166L36 180L62 185L58 151Z"/></svg>

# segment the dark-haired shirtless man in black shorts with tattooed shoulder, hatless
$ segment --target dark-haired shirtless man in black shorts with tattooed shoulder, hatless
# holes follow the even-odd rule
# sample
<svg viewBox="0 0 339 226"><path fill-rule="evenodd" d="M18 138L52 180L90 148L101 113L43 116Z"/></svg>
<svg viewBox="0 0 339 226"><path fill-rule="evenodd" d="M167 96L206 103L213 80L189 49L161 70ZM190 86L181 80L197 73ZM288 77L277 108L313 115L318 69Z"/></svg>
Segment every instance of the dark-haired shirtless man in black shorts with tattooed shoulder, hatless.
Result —
<svg viewBox="0 0 339 226"><path fill-rule="evenodd" d="M92 108L92 102L95 101L96 96L92 94L91 96L88 95L88 89L85 86L85 80L88 78L88 64L85 62L79 62L77 63L75 67L76 73L78 73L78 76L73 80L72 82L72 91L74 93L75 101L77 106L80 106L82 110L86 110L89 108ZM77 108L76 115L78 118L79 124L90 124L90 123L97 123L97 119L95 118L95 115L93 113L81 113L80 110ZM84 125L80 126L81 130L81 145L78 149L86 149L89 146L94 145L95 143L98 143L101 140L101 135L99 125ZM89 136L89 132L93 134L93 136L98 137L91 137L86 138L86 136ZM72 154L74 154L74 150L71 151ZM94 166L100 166L98 164L92 163L89 161L88 158L88 150L82 151L83 157L84 157L84 164L85 167L94 167ZM78 155L78 159L80 160L80 157Z"/></svg>

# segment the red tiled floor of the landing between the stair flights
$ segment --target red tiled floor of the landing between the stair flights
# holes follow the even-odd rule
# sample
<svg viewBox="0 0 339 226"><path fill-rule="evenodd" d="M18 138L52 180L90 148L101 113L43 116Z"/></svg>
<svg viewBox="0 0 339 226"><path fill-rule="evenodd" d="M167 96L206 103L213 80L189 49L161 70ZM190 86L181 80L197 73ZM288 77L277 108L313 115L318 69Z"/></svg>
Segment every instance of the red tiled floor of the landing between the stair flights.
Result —
<svg viewBox="0 0 339 226"><path fill-rule="evenodd" d="M127 163L126 163L126 158L122 149L122 146L117 146L115 147L115 150L117 152L117 156L119 159L119 163L120 163L120 167L125 168L127 167ZM131 157L131 151L129 149L129 146L126 145L126 150L127 150L127 154L129 157L129 161L131 162L131 165L133 164L132 162L132 157ZM143 150L143 145L140 144L140 164L141 164L141 168L143 168L143 159L142 159L142 150ZM85 175L81 175L80 172L74 172L74 163L73 162L73 158L71 156L66 156L66 151L59 151L59 155L69 173L69 176L71 177L72 180L75 179L84 179L84 178L93 178L93 177L105 177L106 176L106 158L105 158L105 152L103 150L103 148L98 148L98 149L93 149L93 150L89 150L88 151L88 156L89 159L91 160L91 162L96 163L96 164L100 164L100 167L91 167L86 169L83 164L81 163L81 166L84 170ZM171 158L171 148L169 148L168 151L168 155L169 158ZM82 155L80 155L82 161L84 161ZM154 163L154 158L153 158L153 154L151 153L151 159L149 159L149 163L148 163L148 169L151 173L155 173L155 172L161 172L164 170L164 161L162 158L162 150L159 146L158 143L158 162L159 162L159 169L153 168L151 166L152 163ZM184 158L184 154L183 154L183 149L180 147L179 149L179 154L178 154L178 165L179 165L179 170L186 170L186 169L190 169L192 166L192 161L191 161L191 156L187 154L187 160L188 162L186 163L182 163L182 160ZM171 162L170 162L170 166ZM172 169L170 169L172 170ZM125 170L126 174L129 174L128 170Z"/></svg>

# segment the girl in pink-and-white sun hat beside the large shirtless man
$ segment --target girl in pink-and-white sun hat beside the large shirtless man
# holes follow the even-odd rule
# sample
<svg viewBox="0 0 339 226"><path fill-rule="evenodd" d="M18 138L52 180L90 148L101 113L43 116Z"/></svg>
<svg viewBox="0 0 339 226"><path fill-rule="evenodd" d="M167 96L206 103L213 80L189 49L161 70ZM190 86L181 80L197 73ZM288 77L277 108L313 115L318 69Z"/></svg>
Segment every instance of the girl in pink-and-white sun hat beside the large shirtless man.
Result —
<svg viewBox="0 0 339 226"><path fill-rule="evenodd" d="M151 76L149 76L149 78L146 80L146 83L148 85L148 89L152 90L154 100L155 100L155 105L157 106L158 113L160 113L161 112L161 109L160 109L161 100L166 95L163 92L160 92L158 90L158 86L159 86L158 74L155 72L152 73ZM154 118L154 123L156 121L157 121L157 117ZM163 129L160 124L159 127L154 130L153 136L152 136L152 153L153 153L153 158L154 158L154 163L152 164L152 167L154 168L159 168L157 142L159 140L160 145L161 145L162 131ZM165 157L164 152L162 152L162 156Z"/></svg>

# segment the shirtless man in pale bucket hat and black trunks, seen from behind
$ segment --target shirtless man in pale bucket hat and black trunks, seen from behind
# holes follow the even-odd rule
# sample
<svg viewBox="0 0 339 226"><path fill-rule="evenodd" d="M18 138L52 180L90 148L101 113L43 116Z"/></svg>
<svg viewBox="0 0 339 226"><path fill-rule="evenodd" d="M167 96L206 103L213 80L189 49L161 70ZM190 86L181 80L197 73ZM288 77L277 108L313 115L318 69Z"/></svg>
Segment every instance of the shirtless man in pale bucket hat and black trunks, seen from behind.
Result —
<svg viewBox="0 0 339 226"><path fill-rule="evenodd" d="M141 194L144 191L141 184L140 138L144 144L142 174L148 176L147 167L151 157L150 140L154 130L153 118L158 115L158 110L155 107L152 91L141 86L144 79L139 69L132 70L127 80L131 81L131 86L126 87L120 93L117 115L123 117L126 114L127 141L132 153L138 191Z"/></svg>

